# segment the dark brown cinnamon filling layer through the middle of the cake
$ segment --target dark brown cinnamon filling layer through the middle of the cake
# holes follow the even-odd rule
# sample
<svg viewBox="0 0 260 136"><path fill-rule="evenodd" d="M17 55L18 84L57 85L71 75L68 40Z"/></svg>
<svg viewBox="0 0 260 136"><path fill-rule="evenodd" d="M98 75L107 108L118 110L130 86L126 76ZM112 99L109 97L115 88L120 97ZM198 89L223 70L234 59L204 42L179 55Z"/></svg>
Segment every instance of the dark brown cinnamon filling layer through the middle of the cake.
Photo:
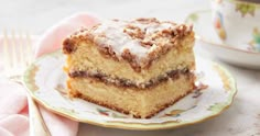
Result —
<svg viewBox="0 0 260 136"><path fill-rule="evenodd" d="M171 70L165 72L165 75L161 75L156 78L152 78L147 82L136 82L129 79L122 79L118 77L110 77L99 71L72 71L68 73L71 78L93 78L98 81L102 81L105 83L111 83L118 87L127 87L127 88L138 88L138 89L147 89L154 87L161 82L167 81L170 79L175 80L178 79L180 75L186 75L188 78L194 78L193 72L188 69L182 70Z"/></svg>

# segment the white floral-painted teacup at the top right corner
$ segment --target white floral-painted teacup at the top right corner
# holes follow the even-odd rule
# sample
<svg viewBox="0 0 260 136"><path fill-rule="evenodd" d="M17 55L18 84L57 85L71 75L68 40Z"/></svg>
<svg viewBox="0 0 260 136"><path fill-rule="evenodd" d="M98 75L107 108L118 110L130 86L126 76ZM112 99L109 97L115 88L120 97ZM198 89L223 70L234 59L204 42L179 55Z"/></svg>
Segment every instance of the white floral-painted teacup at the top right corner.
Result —
<svg viewBox="0 0 260 136"><path fill-rule="evenodd" d="M225 45L260 52L260 0L212 0L213 24Z"/></svg>

